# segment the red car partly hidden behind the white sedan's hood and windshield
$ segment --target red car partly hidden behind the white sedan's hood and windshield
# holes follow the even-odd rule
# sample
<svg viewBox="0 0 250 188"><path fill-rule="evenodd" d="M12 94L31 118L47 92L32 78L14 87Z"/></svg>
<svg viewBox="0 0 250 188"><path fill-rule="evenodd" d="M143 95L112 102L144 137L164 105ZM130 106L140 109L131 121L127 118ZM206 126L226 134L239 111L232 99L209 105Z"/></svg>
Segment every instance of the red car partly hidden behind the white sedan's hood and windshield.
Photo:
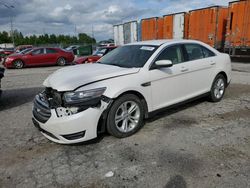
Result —
<svg viewBox="0 0 250 188"><path fill-rule="evenodd" d="M106 47L99 47L97 50L90 56L83 56L78 57L74 61L75 64L83 64L83 63L95 63L97 62L102 56L106 55L107 53L111 52L113 49L117 48L117 46L106 46Z"/></svg>

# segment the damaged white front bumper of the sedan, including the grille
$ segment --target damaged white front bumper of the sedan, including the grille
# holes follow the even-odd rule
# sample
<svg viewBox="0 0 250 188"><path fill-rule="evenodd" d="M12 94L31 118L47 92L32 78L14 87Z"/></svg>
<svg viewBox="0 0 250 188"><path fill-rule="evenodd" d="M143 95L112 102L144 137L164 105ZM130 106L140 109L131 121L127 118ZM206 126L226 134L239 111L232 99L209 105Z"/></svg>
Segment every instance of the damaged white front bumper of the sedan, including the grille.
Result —
<svg viewBox="0 0 250 188"><path fill-rule="evenodd" d="M97 137L97 127L111 100L98 99L98 105L78 107L51 107L49 100L37 95L33 107L33 123L49 140L73 144ZM80 109L80 111L78 111Z"/></svg>

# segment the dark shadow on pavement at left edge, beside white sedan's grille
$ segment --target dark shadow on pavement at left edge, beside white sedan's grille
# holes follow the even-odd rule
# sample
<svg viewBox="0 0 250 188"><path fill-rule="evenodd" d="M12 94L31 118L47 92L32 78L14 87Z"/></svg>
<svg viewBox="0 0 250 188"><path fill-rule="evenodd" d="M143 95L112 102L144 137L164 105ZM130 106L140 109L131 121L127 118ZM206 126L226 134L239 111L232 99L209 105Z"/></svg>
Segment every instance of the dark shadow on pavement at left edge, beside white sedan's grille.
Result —
<svg viewBox="0 0 250 188"><path fill-rule="evenodd" d="M0 111L31 102L35 95L42 90L42 87L3 90L0 99Z"/></svg>

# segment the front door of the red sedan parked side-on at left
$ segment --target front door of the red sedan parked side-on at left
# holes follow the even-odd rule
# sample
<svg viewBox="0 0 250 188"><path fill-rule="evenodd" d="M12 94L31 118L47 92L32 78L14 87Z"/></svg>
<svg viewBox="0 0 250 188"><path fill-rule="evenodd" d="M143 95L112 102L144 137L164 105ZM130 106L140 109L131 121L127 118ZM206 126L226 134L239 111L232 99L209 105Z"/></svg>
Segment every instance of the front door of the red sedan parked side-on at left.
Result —
<svg viewBox="0 0 250 188"><path fill-rule="evenodd" d="M33 50L27 58L27 64L29 65L41 65L44 64L44 48L38 48Z"/></svg>

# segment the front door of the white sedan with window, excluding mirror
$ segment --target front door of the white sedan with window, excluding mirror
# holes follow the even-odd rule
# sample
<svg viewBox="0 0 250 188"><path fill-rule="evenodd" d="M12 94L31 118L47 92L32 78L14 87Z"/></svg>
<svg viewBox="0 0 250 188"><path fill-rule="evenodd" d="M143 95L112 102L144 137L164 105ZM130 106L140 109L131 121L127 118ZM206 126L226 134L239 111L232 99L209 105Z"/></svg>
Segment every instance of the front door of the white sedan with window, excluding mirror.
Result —
<svg viewBox="0 0 250 188"><path fill-rule="evenodd" d="M171 60L173 66L154 68L158 60ZM151 80L153 110L157 110L187 98L186 87L188 75L181 45L165 48L151 66L149 76Z"/></svg>

